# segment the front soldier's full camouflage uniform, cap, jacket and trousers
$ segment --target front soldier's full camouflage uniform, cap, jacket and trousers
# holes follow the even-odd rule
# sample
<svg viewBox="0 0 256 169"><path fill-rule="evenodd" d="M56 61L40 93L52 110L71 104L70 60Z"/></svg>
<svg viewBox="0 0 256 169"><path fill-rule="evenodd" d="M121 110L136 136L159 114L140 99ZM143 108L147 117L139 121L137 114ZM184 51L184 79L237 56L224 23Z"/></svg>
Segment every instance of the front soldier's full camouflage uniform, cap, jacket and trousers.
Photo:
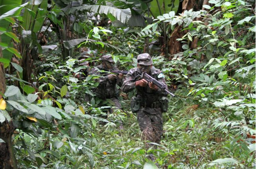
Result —
<svg viewBox="0 0 256 169"><path fill-rule="evenodd" d="M149 54L140 54L137 60L139 64L143 65L151 65L153 63ZM143 61L141 62L140 60ZM143 137L151 142L159 143L163 133L163 116L159 106L159 99L163 97L165 93L160 88L158 88L157 91L152 90L149 85L146 87L135 86L135 82L141 80L140 76L137 76L137 71L139 71L139 68L129 70L121 89L125 93L133 89L137 90L136 97L142 98L141 107L136 113L139 127L143 132ZM152 66L149 75L166 85L161 70Z"/></svg>

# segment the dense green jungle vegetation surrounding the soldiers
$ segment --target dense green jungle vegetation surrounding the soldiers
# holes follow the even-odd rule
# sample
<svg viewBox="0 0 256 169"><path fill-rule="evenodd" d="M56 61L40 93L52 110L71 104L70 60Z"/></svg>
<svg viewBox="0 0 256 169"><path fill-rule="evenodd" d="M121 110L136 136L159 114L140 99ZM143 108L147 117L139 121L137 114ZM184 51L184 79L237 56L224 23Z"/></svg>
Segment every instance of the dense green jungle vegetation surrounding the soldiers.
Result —
<svg viewBox="0 0 256 169"><path fill-rule="evenodd" d="M254 0L0 0L0 47L1 169L256 166ZM127 71L142 53L175 94L155 149L134 93L106 113L100 76L83 72L104 54Z"/></svg>

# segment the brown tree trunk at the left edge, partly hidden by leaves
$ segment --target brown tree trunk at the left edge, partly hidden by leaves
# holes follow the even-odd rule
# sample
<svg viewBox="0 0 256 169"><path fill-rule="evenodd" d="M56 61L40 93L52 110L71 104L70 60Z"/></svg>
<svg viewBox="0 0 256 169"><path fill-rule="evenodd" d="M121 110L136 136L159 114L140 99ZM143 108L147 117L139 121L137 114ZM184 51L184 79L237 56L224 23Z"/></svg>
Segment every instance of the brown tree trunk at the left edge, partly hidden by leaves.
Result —
<svg viewBox="0 0 256 169"><path fill-rule="evenodd" d="M0 37L1 42L1 37ZM2 48L0 48L0 58L2 58ZM6 89L5 84L5 71L4 64L0 63L0 92L4 93ZM0 99L2 95L0 94ZM15 127L11 121L5 120L0 123L0 139L4 140L4 143L0 142L0 169L17 169L17 163L14 155L14 149L12 145L12 134Z"/></svg>

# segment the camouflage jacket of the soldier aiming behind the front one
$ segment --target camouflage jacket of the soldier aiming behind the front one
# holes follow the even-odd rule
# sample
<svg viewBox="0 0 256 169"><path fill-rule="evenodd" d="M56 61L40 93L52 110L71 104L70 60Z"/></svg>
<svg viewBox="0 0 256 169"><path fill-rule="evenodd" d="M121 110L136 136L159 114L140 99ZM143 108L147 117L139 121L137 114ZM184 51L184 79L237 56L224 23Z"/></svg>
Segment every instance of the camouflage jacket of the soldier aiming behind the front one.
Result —
<svg viewBox="0 0 256 169"><path fill-rule="evenodd" d="M90 72L90 74L100 75L101 77L96 80L96 82L99 82L99 85L94 89L94 93L101 99L111 99L113 97L118 97L119 90L117 89L116 85L119 85L121 87L122 81L120 79L115 80L109 80L107 78L107 75L109 75L107 72L99 72L99 70L105 70L102 65L96 66L96 68L93 68ZM113 70L119 70L117 68L113 68Z"/></svg>

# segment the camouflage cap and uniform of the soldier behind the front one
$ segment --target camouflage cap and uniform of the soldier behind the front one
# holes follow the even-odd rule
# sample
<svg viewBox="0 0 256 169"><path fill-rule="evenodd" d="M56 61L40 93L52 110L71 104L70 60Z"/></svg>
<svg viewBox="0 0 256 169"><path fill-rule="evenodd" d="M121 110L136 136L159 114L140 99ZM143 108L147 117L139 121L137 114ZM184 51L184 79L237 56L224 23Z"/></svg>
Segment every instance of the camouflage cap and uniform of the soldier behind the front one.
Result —
<svg viewBox="0 0 256 169"><path fill-rule="evenodd" d="M103 58L105 58L108 62L114 62L112 57L110 55L104 55ZM102 100L111 99L115 105L115 107L121 109L121 104L119 103L119 100L117 99L119 96L119 90L117 89L117 85L121 87L122 80L116 78L115 80L109 80L107 78L106 72L102 73L99 72L99 70L109 71L105 68L103 68L103 65L96 66L96 68L93 68L90 72L90 74L100 75L103 77L100 77L96 80L96 82L99 82L99 85L94 89L94 94L97 95ZM113 68L113 70L119 70L118 68ZM115 109L111 109L111 113L113 113Z"/></svg>

